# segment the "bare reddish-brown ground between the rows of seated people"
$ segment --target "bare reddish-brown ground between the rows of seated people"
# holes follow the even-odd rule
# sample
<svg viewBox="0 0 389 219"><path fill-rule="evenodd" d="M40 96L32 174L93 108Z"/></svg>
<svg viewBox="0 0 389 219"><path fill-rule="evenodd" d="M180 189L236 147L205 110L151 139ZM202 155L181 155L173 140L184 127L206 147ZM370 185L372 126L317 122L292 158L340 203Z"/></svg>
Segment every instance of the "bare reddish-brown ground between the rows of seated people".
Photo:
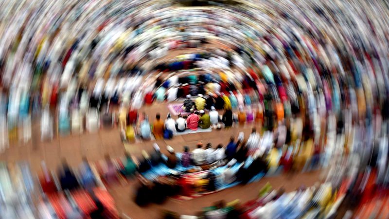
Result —
<svg viewBox="0 0 389 219"><path fill-rule="evenodd" d="M161 114L161 118L166 118L168 113L167 103L156 103L152 106L145 106L140 110L140 112L142 111L146 112L151 121L153 121L157 112ZM167 145L172 146L176 151L181 151L184 145L190 146L190 148L193 149L198 141L204 143L211 142L214 146L220 143L226 145L231 135L237 136L240 131L243 131L245 132L245 136L248 136L252 127L253 125L246 125L245 127L235 127L228 130L213 130L212 132L175 136L172 140L160 140L157 141L157 143L163 153L167 152ZM132 155L140 156L141 150L151 150L154 142L155 141L146 141L143 143L137 142L128 144L127 149ZM124 155L124 144L121 140L118 128L101 129L99 133L95 134L84 133L70 135L55 138L51 142L41 142L39 124L37 124L33 127L32 141L25 145L10 146L9 149L1 154L0 159L11 163L29 161L32 171L39 173L42 160L46 161L46 164L50 169L56 170L59 167L62 158L65 158L71 166L76 167L80 164L83 156L86 156L89 161L98 161L102 160L105 154L109 154L113 158ZM194 200L177 201L169 199L164 204L152 204L145 208L137 206L132 201L134 190L137 187L136 181L129 182L125 185L112 185L109 186L108 190L115 199L118 210L123 218L155 219L159 218L162 210L193 215L203 207L210 206L216 201L233 201L235 199L241 201L252 200L257 197L259 189L266 182L271 183L274 188L283 186L286 191L296 189L302 184L310 186L319 181L319 175L319 172L314 172L293 176L282 175L273 178L264 178L257 183L236 186Z"/></svg>

